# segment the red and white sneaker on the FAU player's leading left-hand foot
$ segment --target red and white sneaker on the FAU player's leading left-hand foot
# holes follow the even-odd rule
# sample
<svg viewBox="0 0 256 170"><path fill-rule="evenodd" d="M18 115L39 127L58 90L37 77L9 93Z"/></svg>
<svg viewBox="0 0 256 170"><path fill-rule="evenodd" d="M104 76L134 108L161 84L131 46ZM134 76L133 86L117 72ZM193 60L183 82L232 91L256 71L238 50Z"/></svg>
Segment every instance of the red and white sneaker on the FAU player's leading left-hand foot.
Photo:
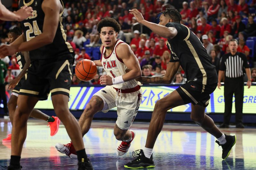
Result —
<svg viewBox="0 0 256 170"><path fill-rule="evenodd" d="M75 150L71 141L70 141L69 144L60 144L60 143L58 143L58 144L55 145L55 148L60 153L66 154L69 158L77 159L76 150Z"/></svg>

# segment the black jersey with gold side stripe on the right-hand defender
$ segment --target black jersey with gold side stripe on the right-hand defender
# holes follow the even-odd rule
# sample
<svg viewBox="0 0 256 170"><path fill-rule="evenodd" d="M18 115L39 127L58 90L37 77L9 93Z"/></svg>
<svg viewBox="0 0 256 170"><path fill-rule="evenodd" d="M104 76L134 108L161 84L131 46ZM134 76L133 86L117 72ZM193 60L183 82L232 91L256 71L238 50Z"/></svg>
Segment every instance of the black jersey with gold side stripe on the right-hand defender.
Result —
<svg viewBox="0 0 256 170"><path fill-rule="evenodd" d="M166 43L171 50L170 62L180 62L187 80L199 81L203 86L218 82L215 66L198 37L180 23L171 22L166 24L166 27L174 27L178 32Z"/></svg>

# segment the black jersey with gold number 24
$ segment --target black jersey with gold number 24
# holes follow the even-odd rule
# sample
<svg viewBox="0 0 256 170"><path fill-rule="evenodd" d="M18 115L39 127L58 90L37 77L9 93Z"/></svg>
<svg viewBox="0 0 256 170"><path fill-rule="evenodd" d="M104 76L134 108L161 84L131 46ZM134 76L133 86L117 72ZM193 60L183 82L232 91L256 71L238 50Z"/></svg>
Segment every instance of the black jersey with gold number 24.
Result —
<svg viewBox="0 0 256 170"><path fill-rule="evenodd" d="M60 2L64 9L63 2ZM42 3L43 0L20 0L19 8L24 5L33 8L33 16L21 21L22 30L27 41L31 40L32 38L43 32L44 11L41 7ZM62 25L62 14L63 11L60 13L59 25L53 42L51 44L29 51L29 56L31 60L50 59L53 57L55 58L61 55L73 53L72 46L68 42L66 42L67 35L65 34Z"/></svg>

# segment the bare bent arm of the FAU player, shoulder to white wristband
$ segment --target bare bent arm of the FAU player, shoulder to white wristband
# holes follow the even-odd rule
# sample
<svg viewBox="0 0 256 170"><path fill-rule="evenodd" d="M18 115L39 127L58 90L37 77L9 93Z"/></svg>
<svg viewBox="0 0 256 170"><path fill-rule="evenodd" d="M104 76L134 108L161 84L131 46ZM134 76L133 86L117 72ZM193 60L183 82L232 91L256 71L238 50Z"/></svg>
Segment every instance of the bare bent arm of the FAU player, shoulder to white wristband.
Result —
<svg viewBox="0 0 256 170"><path fill-rule="evenodd" d="M124 82L141 77L140 63L128 44L119 44L116 47L116 55L123 60L125 66L129 69L129 72L123 75Z"/></svg>

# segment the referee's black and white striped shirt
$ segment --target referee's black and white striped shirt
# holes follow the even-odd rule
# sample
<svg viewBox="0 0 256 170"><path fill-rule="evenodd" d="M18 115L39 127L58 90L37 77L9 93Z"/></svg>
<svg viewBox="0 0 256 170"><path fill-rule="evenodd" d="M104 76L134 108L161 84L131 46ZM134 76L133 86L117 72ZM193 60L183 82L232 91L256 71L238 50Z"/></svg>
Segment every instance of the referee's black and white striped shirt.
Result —
<svg viewBox="0 0 256 170"><path fill-rule="evenodd" d="M244 69L249 68L246 56L243 53L236 52L225 54L220 59L220 70L226 71L228 78L238 78L244 75Z"/></svg>

